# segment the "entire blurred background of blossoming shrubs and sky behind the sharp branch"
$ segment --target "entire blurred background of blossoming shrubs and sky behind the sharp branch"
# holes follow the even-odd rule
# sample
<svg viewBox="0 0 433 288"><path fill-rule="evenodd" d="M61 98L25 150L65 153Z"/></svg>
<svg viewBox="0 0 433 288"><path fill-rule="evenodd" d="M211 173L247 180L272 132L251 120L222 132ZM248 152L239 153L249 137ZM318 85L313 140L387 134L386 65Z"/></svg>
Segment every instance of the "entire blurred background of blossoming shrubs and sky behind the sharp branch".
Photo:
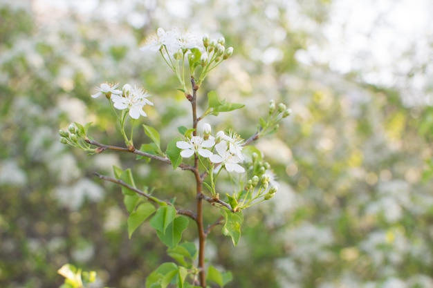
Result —
<svg viewBox="0 0 433 288"><path fill-rule="evenodd" d="M139 50L158 27L234 47L201 101L217 90L246 108L209 117L214 131L248 138L270 99L293 110L256 143L277 195L245 211L239 247L220 229L208 241L228 287L433 287L432 14L430 0L1 0L0 287L59 287L66 262L97 271L95 287L143 287L169 260L148 224L128 239L119 187L92 173L131 167L187 206L184 172L88 156L58 135L93 122L95 140L122 145L109 106L90 97L104 81L149 90L142 121L163 146L189 124L172 71Z"/></svg>

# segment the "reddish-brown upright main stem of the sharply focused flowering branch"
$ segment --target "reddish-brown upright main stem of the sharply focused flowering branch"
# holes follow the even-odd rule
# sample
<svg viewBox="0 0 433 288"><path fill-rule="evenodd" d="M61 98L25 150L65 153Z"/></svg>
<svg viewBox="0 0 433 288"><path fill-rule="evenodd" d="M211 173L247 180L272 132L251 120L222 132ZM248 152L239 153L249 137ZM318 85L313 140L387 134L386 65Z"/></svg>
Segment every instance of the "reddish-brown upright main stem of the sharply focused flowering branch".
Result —
<svg viewBox="0 0 433 288"><path fill-rule="evenodd" d="M192 97L188 97L191 101L192 105L192 128L194 128L194 132L192 135L197 135L197 124L199 123L199 119L197 119L197 90L199 86L196 85L196 81L194 77L191 77L191 85L192 85ZM196 177L196 200L197 200L197 230L199 233L199 280L201 287L206 287L206 272L205 272L205 240L206 233L203 227L203 180L200 177L199 171L199 157L197 155L194 156L194 176Z"/></svg>

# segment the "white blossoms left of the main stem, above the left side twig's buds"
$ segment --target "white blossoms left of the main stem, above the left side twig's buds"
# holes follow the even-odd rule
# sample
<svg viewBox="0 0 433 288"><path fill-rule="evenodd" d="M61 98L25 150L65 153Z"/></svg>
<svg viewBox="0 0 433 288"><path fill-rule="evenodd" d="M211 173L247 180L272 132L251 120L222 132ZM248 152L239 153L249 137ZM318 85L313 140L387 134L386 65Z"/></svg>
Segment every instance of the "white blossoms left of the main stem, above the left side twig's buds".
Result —
<svg viewBox="0 0 433 288"><path fill-rule="evenodd" d="M145 91L144 88L138 88L137 86L132 87L129 84L125 84L122 87L122 90L118 90L118 84L107 84L103 83L100 85L98 93L91 95L93 98L100 97L100 95L104 94L107 98L113 101L114 108L119 110L127 109L129 116L133 119L138 119L138 117L144 116L147 114L142 108L145 105L154 105L150 102L147 97L150 96L149 93Z"/></svg>

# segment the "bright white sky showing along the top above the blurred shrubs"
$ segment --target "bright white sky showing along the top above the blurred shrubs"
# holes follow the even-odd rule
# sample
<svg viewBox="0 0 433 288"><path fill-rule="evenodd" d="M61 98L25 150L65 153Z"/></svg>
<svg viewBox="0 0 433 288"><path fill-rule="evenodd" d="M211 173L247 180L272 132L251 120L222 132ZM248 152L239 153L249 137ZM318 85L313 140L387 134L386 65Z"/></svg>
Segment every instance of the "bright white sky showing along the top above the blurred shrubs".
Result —
<svg viewBox="0 0 433 288"><path fill-rule="evenodd" d="M47 6L69 6L86 14L97 9L107 19L115 19L119 12L115 1L104 1L103 6L98 6L98 0L34 0L32 3L37 10L44 10ZM131 3L122 1L122 6L125 8ZM174 16L185 16L181 3L184 1L173 1L168 5L172 7L169 12ZM298 51L298 61L306 65L329 64L331 70L342 74L357 71L367 83L407 90L408 106L432 105L433 95L425 95L424 91L431 86L433 68L427 68L423 75L415 75L410 82L403 83L400 78L405 78L403 75L416 68L418 63L432 59L429 41L433 37L430 20L433 1L333 0L332 3L331 21L324 28L328 44L317 46L313 43L305 51ZM142 15L138 13L131 15L129 20L133 26L143 25ZM403 59L402 56L410 50L412 57ZM273 58L272 55L268 57Z"/></svg>

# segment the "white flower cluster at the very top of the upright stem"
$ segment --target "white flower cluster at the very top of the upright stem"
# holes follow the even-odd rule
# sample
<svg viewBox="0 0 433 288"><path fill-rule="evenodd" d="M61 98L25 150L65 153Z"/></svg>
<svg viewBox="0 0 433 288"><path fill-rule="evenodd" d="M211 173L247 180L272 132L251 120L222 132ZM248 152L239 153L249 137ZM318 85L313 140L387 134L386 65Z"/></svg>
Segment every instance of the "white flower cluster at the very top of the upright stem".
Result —
<svg viewBox="0 0 433 288"><path fill-rule="evenodd" d="M148 37L145 46L142 46L140 50L158 51L165 47L167 52L172 55L179 49L194 48L197 44L196 36L191 32L183 32L178 28L165 32L163 28L158 28L156 35Z"/></svg>

